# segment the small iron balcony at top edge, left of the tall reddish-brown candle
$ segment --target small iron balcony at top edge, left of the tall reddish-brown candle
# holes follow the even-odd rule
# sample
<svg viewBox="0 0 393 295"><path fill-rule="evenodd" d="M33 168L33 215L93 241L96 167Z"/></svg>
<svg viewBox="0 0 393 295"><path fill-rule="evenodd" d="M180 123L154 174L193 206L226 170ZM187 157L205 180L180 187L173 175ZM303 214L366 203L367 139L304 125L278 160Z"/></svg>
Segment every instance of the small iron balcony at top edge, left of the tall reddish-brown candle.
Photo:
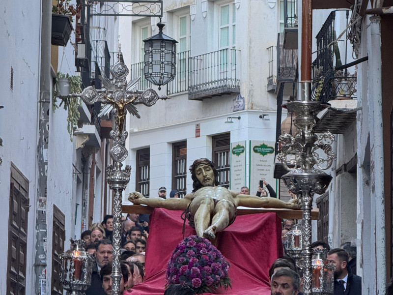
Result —
<svg viewBox="0 0 393 295"><path fill-rule="evenodd" d="M284 0L285 49L298 49L298 0Z"/></svg>

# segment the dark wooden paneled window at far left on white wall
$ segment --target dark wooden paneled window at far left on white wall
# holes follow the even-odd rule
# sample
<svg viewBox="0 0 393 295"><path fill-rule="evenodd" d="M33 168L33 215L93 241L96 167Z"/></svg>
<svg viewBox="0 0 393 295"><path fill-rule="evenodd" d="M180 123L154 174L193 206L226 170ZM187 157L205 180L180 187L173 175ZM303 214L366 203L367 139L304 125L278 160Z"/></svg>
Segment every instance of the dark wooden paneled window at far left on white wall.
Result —
<svg viewBox="0 0 393 295"><path fill-rule="evenodd" d="M28 179L11 163L9 193L7 294L26 294Z"/></svg>

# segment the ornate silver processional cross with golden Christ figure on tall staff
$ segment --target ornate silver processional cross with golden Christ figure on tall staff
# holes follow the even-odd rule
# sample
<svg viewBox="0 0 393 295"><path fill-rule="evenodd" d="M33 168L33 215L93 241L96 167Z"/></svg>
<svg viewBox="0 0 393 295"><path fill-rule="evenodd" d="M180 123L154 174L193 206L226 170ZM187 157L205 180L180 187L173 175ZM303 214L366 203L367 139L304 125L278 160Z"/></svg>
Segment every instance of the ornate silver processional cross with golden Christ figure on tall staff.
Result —
<svg viewBox="0 0 393 295"><path fill-rule="evenodd" d="M140 91L136 89L140 78L127 83L128 68L122 62L122 54L119 51L119 62L111 69L113 80L99 77L103 89L95 89L90 86L83 90L82 100L86 104L101 102L105 106L102 108L99 117L112 112L112 131L110 136L113 140L113 147L110 154L113 164L107 167L107 182L113 190L113 262L112 262L112 295L120 295L120 249L121 249L121 203L122 191L126 188L129 180L131 167L126 166L121 169L123 162L128 155L125 148L125 141L128 132L124 130L124 121L127 111L140 118L137 108L134 106L143 103L146 106L154 105L157 100L167 99L167 96L158 96L153 89Z"/></svg>

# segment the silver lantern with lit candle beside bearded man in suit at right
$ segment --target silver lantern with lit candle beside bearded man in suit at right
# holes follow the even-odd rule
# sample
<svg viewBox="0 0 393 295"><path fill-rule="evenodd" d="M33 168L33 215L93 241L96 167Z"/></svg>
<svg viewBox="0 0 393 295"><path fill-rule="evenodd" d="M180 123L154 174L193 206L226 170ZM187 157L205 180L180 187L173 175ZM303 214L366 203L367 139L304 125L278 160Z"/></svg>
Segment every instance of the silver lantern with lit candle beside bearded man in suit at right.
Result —
<svg viewBox="0 0 393 295"><path fill-rule="evenodd" d="M326 249L313 249L312 259L312 295L333 295L335 265L326 259Z"/></svg>

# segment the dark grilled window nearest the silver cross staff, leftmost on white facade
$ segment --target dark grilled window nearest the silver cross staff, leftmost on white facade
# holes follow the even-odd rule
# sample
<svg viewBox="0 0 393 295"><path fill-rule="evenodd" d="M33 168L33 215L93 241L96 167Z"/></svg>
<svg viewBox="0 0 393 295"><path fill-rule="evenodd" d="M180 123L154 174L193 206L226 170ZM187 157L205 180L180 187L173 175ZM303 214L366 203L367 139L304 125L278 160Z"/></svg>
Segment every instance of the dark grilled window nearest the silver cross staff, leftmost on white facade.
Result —
<svg viewBox="0 0 393 295"><path fill-rule="evenodd" d="M137 150L136 190L148 197L150 192L150 148Z"/></svg>

